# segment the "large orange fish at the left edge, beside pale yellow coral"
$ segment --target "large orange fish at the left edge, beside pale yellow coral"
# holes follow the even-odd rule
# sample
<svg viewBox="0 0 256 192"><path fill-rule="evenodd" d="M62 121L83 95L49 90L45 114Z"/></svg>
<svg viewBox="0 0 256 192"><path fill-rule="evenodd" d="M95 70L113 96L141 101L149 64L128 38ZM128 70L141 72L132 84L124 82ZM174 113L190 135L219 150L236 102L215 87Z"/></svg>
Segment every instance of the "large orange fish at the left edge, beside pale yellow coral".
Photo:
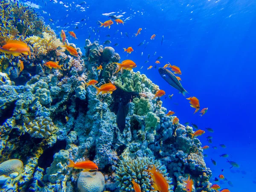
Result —
<svg viewBox="0 0 256 192"><path fill-rule="evenodd" d="M20 56L21 53L31 56L28 45L17 40L9 40L3 47L0 47L0 52L12 54L13 56Z"/></svg>

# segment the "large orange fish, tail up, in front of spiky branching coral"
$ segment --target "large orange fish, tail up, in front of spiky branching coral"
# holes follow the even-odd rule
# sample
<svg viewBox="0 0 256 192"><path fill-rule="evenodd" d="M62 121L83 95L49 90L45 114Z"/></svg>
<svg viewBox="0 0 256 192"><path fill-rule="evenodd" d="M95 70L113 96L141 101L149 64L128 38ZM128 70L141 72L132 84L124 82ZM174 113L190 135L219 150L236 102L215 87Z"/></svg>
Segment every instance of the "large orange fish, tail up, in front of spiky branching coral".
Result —
<svg viewBox="0 0 256 192"><path fill-rule="evenodd" d="M150 172L151 178L153 179L153 187L155 191L160 192L169 192L169 184L167 183L166 179L163 177L163 175L156 170L156 167L153 166L151 170L146 170L147 172Z"/></svg>

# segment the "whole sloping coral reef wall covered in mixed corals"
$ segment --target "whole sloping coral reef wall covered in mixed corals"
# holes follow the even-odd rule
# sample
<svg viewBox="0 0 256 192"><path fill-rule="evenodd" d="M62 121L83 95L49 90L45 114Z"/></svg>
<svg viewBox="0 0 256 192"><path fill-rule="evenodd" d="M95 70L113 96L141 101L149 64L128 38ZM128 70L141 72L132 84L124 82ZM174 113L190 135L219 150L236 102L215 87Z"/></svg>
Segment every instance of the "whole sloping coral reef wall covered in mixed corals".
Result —
<svg viewBox="0 0 256 192"><path fill-rule="evenodd" d="M26 23L41 32L20 34L19 29L28 27L22 25L9 35L0 30L1 46L17 33L32 50L31 57L0 53L1 191L125 192L134 190L131 180L136 179L149 192L154 191L153 181L145 169L155 165L170 192L183 191L187 175L194 180L193 190L213 192L200 140L189 135L192 127L172 125L174 117L166 116L160 99L153 99L156 84L140 72L114 74L118 53L97 41L87 39L82 51L67 42L78 52L73 57L34 10L9 5L4 0L1 7L15 13L26 9ZM16 26L9 15L1 20ZM58 61L63 70L42 61ZM103 70L96 70L100 65ZM93 86L85 86L92 79L99 82L97 87L111 81L117 89L96 96ZM93 160L100 172L68 168L68 158ZM6 160L13 162L8 168Z"/></svg>

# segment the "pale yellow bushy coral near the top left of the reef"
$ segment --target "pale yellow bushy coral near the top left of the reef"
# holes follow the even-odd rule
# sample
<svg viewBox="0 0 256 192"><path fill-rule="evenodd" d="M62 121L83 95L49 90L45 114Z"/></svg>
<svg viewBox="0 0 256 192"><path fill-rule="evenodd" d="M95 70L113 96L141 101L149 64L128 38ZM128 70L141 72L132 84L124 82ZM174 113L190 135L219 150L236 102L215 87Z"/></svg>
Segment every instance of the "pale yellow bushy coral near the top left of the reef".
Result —
<svg viewBox="0 0 256 192"><path fill-rule="evenodd" d="M51 33L43 32L43 38L33 35L27 37L25 41L33 46L34 55L47 55L49 51L55 50L57 56L64 56L65 48L60 39Z"/></svg>

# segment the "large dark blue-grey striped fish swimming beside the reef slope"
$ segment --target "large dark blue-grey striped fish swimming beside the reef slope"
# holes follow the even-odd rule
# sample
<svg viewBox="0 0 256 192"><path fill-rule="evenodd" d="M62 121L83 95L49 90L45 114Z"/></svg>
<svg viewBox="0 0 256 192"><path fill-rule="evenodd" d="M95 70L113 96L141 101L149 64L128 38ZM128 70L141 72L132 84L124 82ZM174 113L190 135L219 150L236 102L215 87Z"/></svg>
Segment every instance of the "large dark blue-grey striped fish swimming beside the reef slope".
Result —
<svg viewBox="0 0 256 192"><path fill-rule="evenodd" d="M167 70L166 68L159 67L158 72L159 72L160 76L162 76L163 79L167 81L167 83L169 83L175 89L179 90L180 93L183 94L183 96L186 97L186 94L189 94L182 87L182 85L180 84L180 81L177 79L177 77L175 77L175 75L171 71Z"/></svg>

